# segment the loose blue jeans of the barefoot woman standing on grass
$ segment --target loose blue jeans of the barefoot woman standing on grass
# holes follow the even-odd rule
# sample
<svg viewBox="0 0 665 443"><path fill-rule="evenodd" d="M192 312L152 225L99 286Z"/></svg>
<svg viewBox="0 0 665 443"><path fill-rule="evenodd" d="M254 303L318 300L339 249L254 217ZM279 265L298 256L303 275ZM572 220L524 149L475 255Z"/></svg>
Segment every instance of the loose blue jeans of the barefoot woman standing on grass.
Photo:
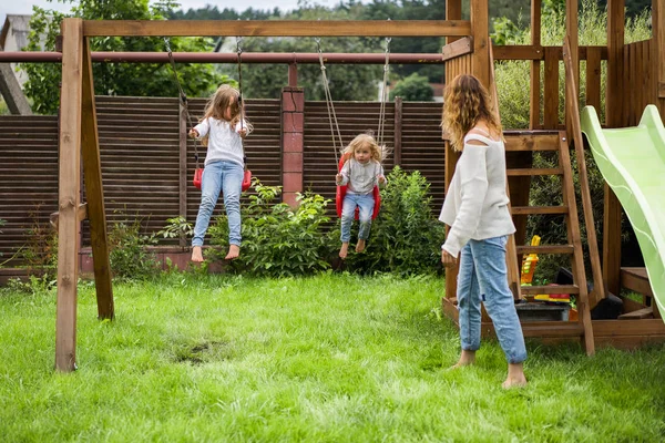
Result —
<svg viewBox="0 0 665 443"><path fill-rule="evenodd" d="M462 350L480 348L480 303L483 301L508 362L521 363L526 360L526 348L508 287L507 241L508 236L469 240L462 248L457 288L460 339Z"/></svg>

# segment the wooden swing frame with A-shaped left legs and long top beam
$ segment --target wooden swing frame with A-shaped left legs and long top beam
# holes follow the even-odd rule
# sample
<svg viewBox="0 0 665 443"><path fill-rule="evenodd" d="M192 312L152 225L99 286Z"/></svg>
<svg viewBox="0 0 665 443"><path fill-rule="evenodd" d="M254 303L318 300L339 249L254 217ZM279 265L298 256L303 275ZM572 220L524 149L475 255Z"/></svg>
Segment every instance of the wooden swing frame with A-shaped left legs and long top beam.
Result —
<svg viewBox="0 0 665 443"><path fill-rule="evenodd" d="M460 16L461 17L461 16ZM62 89L58 200L55 369L76 368L78 231L89 219L100 319L114 318L90 38L94 37L472 37L473 73L489 82L488 0L471 20L418 21L104 21L62 22ZM475 30L475 31L474 31ZM81 203L81 164L86 203Z"/></svg>

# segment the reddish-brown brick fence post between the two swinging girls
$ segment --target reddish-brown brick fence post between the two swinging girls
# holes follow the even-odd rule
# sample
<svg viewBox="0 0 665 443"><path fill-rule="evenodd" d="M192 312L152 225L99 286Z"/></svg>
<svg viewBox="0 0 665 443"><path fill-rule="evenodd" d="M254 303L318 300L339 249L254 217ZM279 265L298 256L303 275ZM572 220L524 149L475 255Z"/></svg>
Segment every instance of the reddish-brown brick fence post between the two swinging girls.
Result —
<svg viewBox="0 0 665 443"><path fill-rule="evenodd" d="M282 89L282 200L295 207L303 192L303 147L305 131L305 91Z"/></svg>

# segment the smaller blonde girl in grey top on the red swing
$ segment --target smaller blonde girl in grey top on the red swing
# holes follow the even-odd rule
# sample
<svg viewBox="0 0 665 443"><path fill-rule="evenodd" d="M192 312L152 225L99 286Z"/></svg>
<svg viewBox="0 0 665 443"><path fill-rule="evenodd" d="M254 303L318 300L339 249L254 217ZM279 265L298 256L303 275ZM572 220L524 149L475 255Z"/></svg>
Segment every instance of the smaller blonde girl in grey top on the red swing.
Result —
<svg viewBox="0 0 665 443"><path fill-rule="evenodd" d="M341 209L341 248L339 249L339 257L345 259L348 255L356 208L360 222L356 253L365 250L375 208L372 190L377 185L382 187L386 177L381 166L382 148L371 133L360 134L354 138L344 150L342 155L348 159L337 174L336 183L337 186L348 185Z"/></svg>

